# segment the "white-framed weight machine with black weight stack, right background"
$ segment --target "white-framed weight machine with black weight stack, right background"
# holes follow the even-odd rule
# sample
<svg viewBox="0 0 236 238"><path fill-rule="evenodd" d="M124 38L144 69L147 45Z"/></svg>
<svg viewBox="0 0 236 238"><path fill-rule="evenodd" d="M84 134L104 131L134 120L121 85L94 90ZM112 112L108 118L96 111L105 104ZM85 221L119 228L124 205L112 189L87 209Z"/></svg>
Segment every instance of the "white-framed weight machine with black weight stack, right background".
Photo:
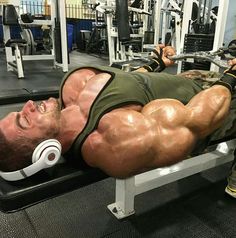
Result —
<svg viewBox="0 0 236 238"><path fill-rule="evenodd" d="M153 6L155 15L154 45L144 46L149 50L159 42L175 47L177 55L193 52L217 51L223 46L228 1L219 0L218 13L212 9L211 0L157 0ZM213 25L213 27L212 27ZM167 36L169 34L169 40ZM186 57L188 58L188 57ZM178 64L178 72L185 62L194 62L196 57ZM205 62L204 62L205 63ZM206 64L208 64L206 62ZM218 71L210 64L211 70Z"/></svg>

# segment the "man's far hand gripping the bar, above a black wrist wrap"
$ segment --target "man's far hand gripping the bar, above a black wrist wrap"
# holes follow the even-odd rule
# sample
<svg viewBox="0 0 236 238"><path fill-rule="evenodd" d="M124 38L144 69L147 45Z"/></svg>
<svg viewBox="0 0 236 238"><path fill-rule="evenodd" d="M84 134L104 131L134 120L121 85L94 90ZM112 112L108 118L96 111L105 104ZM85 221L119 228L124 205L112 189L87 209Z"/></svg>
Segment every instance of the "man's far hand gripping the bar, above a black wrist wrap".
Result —
<svg viewBox="0 0 236 238"><path fill-rule="evenodd" d="M169 56L173 56L176 54L176 51L172 46L165 46L164 44L159 44L155 47L155 50L161 56L161 59L166 67L174 64L174 61L168 58ZM154 57L159 57L158 55L155 54L155 52L153 54Z"/></svg>

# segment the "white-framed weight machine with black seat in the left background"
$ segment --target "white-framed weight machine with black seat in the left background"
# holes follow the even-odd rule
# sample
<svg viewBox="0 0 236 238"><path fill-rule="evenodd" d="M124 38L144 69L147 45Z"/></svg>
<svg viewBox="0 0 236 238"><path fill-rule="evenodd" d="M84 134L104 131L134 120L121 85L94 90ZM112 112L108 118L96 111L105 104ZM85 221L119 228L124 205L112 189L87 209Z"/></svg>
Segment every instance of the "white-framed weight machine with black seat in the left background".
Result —
<svg viewBox="0 0 236 238"><path fill-rule="evenodd" d="M11 17L15 17L15 20L8 22L5 17L5 10L12 5L13 13L10 13ZM67 49L67 34L66 34L66 17L65 17L65 1L53 0L50 5L50 20L36 20L32 22L24 23L20 18L20 0L1 0L0 12L3 14L3 35L5 43L7 70L16 71L18 78L24 78L24 61L40 61L51 60L53 61L53 67L62 68L63 72L68 71L68 49ZM5 9L5 10L4 10ZM11 9L11 10L12 10ZM15 9L15 10L14 10ZM54 39L52 41L52 49L50 54L39 55L24 55L22 54L22 47L25 47L27 41L24 39L12 39L10 33L10 27L14 25L19 26L43 26L47 25L51 29L51 35ZM30 38L30 37L29 37Z"/></svg>

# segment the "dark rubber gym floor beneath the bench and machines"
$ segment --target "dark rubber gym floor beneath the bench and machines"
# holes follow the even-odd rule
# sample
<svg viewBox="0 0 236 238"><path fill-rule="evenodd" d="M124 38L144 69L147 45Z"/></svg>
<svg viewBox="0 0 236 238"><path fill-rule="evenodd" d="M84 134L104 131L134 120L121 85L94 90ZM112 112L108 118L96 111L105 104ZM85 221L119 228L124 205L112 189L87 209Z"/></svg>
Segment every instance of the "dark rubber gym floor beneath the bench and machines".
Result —
<svg viewBox="0 0 236 238"><path fill-rule="evenodd" d="M25 79L6 71L0 52L1 92L59 87L63 73L48 62L27 63ZM106 57L70 53L70 68L108 65ZM3 105L0 115L21 105ZM230 164L170 183L135 198L136 213L117 220L107 209L115 199L108 178L14 213L0 212L1 238L231 238L236 237L236 201L224 193ZM1 185L0 185L1 186Z"/></svg>

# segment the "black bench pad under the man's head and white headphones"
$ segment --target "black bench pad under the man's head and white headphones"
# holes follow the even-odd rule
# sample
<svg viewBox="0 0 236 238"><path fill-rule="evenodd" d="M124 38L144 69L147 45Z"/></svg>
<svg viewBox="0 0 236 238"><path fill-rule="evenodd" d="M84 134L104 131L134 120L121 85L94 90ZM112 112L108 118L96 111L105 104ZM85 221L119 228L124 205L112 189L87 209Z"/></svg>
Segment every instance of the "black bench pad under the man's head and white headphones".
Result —
<svg viewBox="0 0 236 238"><path fill-rule="evenodd" d="M8 182L0 178L0 210L18 211L107 177L101 170L63 162L24 180Z"/></svg>

